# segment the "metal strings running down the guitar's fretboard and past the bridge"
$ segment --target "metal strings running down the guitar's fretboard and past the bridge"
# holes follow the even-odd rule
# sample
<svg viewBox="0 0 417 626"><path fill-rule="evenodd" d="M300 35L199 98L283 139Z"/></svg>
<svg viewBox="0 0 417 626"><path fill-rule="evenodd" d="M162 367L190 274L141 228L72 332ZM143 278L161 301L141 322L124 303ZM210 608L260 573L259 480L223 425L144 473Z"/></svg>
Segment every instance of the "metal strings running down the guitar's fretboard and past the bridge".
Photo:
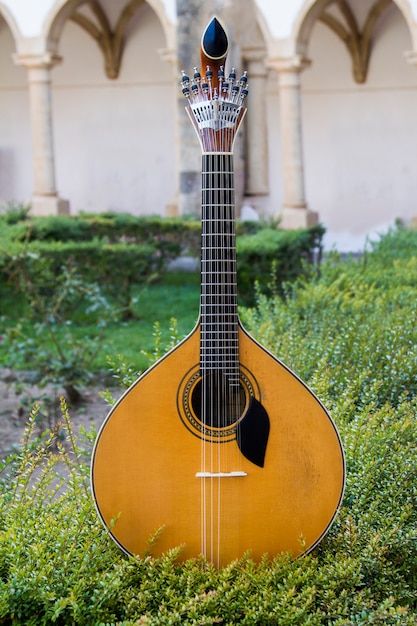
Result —
<svg viewBox="0 0 417 626"><path fill-rule="evenodd" d="M207 471L207 444L206 433L210 428L224 428L236 422L240 417L240 387L239 387L239 357L237 346L237 286L235 260L235 227L234 227L234 190L233 190L233 159L231 155L231 141L233 133L230 129L216 132L206 129L206 154L204 160L205 184L203 203L203 235L204 246L202 254L204 275L204 298L202 312L203 321L203 364L202 364L202 467ZM219 140L220 139L220 140ZM226 152L228 153L226 155ZM215 158L216 157L216 158ZM210 215L211 209L211 215ZM215 222L209 224L209 220ZM209 241L210 239L210 241ZM231 248L233 250L231 251ZM209 274L215 274L217 281ZM233 281L231 280L233 278ZM233 284L234 283L234 284ZM210 317L214 324L208 331L207 309L213 315L213 302L221 303L217 307L217 317ZM203 309L204 307L204 309ZM223 340L223 345L222 345ZM216 350L209 345L215 345ZM222 357L225 359L221 363ZM210 363L209 360L215 361ZM220 367L220 365L222 367ZM223 369L224 366L224 369ZM217 369L216 369L217 368ZM210 374L209 374L210 372ZM210 446L210 520L207 518L207 480L202 481L202 552L207 556L207 524L210 527L210 556L214 557L214 534L217 535L217 560L220 559L221 541L221 483L217 477L217 506L214 507L214 476L220 474L223 467L229 464L222 463L221 431L219 431L217 445L216 468L213 460L213 446ZM226 447L227 449L227 447ZM214 471L214 470L217 470ZM217 509L217 528L214 533L214 509Z"/></svg>

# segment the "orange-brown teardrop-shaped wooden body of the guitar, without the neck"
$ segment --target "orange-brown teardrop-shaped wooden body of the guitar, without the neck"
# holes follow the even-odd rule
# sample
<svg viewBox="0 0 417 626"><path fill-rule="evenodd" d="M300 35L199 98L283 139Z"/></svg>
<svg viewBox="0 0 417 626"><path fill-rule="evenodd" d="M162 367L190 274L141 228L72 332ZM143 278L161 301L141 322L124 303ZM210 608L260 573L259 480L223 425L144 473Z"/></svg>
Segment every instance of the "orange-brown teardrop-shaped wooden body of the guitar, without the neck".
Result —
<svg viewBox="0 0 417 626"><path fill-rule="evenodd" d="M239 347L245 393L269 415L263 467L241 454L233 433L224 442L199 436L190 395L200 324L104 422L93 452L94 496L126 552L143 555L162 529L152 554L183 545L182 558L204 553L221 566L248 550L256 559L300 555L329 528L344 485L337 430L309 389L240 326ZM196 476L202 470L214 476Z"/></svg>

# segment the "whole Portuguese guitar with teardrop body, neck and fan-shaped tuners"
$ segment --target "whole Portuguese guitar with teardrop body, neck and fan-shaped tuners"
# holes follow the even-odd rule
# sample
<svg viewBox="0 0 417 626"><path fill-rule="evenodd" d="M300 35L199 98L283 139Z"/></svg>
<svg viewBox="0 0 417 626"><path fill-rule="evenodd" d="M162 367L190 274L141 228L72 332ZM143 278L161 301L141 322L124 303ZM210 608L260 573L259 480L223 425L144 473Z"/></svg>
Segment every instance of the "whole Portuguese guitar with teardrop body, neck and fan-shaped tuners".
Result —
<svg viewBox="0 0 417 626"><path fill-rule="evenodd" d="M202 39L206 77L182 79L203 152L200 317L114 406L92 458L99 515L123 550L183 545L182 558L203 554L218 566L247 551L310 551L345 481L325 408L238 319L232 152L247 82L233 71L224 78L227 47L213 18Z"/></svg>

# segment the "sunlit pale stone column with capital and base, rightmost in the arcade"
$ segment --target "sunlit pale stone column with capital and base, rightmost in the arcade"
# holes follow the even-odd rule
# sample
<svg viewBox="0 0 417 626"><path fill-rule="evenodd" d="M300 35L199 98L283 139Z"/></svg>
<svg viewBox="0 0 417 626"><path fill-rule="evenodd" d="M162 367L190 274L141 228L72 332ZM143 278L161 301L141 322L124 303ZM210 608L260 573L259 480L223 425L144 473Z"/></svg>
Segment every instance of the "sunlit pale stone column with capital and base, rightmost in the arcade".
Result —
<svg viewBox="0 0 417 626"><path fill-rule="evenodd" d="M283 228L305 228L317 223L317 213L307 207L304 186L300 74L309 61L300 56L270 59L278 72L283 162Z"/></svg>

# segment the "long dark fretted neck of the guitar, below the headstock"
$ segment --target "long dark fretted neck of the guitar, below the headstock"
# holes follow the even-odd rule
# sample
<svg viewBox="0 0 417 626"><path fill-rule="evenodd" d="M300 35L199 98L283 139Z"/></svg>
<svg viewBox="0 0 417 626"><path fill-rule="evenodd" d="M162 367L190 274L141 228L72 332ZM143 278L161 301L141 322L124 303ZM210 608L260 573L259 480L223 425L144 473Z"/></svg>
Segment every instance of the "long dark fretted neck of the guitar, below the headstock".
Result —
<svg viewBox="0 0 417 626"><path fill-rule="evenodd" d="M239 378L232 153L202 157L201 370ZM233 379L236 378L236 381Z"/></svg>

